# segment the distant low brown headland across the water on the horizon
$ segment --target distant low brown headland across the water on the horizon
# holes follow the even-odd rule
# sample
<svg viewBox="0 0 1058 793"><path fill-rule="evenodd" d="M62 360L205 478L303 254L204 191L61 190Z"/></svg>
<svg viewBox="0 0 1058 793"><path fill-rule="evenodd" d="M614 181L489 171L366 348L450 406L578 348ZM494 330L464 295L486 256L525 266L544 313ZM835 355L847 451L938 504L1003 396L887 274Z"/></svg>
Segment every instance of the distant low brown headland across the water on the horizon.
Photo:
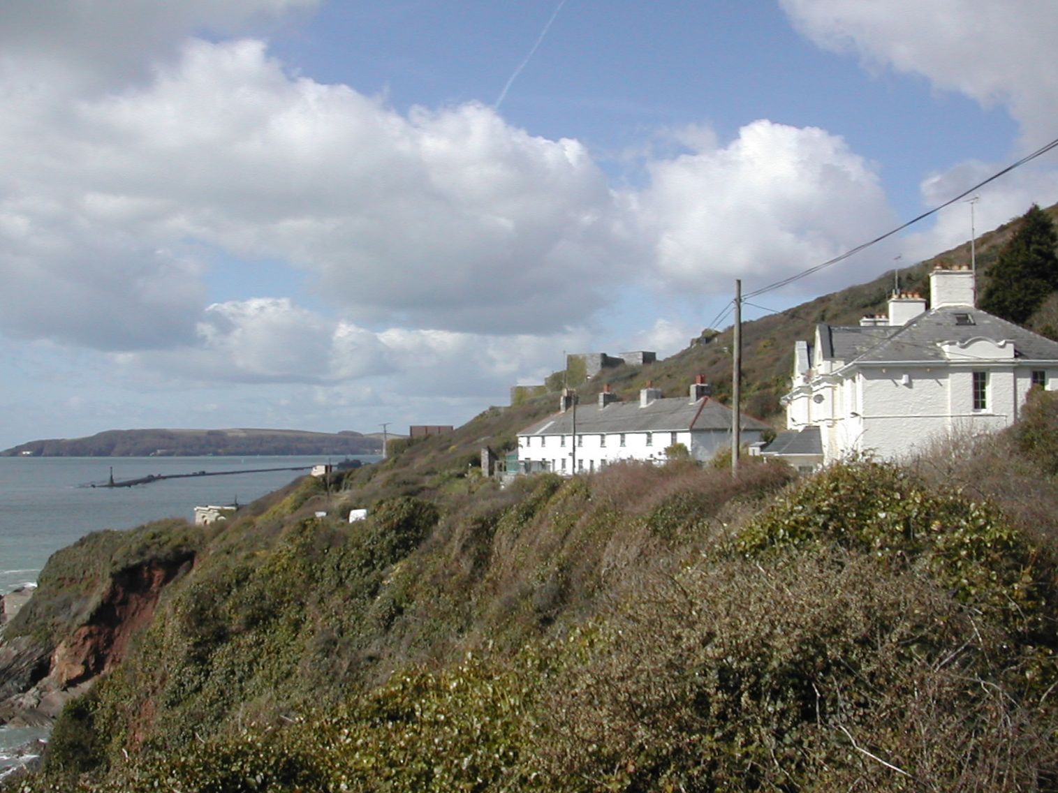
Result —
<svg viewBox="0 0 1058 793"><path fill-rule="evenodd" d="M2 457L201 457L205 455L375 455L376 436L345 430L110 429L88 438L30 441Z"/></svg>

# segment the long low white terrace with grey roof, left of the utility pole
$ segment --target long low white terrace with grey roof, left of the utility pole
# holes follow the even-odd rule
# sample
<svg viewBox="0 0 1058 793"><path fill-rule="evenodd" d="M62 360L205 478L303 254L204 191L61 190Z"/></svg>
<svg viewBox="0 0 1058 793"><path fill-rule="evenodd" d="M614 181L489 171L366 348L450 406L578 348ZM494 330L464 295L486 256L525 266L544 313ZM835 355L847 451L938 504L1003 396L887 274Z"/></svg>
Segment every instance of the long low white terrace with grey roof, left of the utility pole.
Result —
<svg viewBox="0 0 1058 793"><path fill-rule="evenodd" d="M699 376L688 396L662 398L644 388L639 401L619 402L608 388L598 405L573 405L571 392L560 411L518 432L518 471L558 474L601 471L620 460L664 462L665 448L681 443L696 460L731 446L731 410L710 399ZM761 440L764 422L742 417L746 443Z"/></svg>

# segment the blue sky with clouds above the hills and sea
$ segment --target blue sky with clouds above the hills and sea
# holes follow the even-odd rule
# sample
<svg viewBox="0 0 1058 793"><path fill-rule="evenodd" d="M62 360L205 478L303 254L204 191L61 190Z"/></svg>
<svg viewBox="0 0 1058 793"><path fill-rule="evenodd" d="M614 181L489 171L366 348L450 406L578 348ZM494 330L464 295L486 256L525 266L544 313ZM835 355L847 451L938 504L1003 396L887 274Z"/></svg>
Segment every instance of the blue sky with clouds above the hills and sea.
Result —
<svg viewBox="0 0 1058 793"><path fill-rule="evenodd" d="M1058 137L1052 0L5 0L0 448L461 424ZM1058 151L746 307L1058 201ZM899 258L897 258L899 257Z"/></svg>

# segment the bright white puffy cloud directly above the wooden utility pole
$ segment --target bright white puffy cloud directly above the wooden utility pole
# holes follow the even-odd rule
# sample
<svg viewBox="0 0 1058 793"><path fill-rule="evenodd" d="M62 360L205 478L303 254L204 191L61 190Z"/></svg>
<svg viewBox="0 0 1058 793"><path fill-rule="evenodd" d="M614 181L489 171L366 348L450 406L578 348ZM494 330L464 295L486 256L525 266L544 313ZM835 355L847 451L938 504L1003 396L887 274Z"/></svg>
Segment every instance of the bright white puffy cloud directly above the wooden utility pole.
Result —
<svg viewBox="0 0 1058 793"><path fill-rule="evenodd" d="M758 121L727 146L650 166L640 197L657 266L676 290L716 278L771 278L818 264L887 230L894 216L873 167L824 130Z"/></svg>

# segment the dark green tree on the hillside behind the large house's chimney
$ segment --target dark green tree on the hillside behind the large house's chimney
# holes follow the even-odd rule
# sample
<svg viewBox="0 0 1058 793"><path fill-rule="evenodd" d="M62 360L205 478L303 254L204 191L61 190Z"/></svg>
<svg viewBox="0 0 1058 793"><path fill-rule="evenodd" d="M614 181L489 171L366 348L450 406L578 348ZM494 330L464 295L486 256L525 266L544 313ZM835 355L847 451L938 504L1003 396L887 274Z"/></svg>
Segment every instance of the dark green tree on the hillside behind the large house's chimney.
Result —
<svg viewBox="0 0 1058 793"><path fill-rule="evenodd" d="M1033 204L988 270L981 308L1011 322L1024 324L1058 289L1056 245L1054 223Z"/></svg>

